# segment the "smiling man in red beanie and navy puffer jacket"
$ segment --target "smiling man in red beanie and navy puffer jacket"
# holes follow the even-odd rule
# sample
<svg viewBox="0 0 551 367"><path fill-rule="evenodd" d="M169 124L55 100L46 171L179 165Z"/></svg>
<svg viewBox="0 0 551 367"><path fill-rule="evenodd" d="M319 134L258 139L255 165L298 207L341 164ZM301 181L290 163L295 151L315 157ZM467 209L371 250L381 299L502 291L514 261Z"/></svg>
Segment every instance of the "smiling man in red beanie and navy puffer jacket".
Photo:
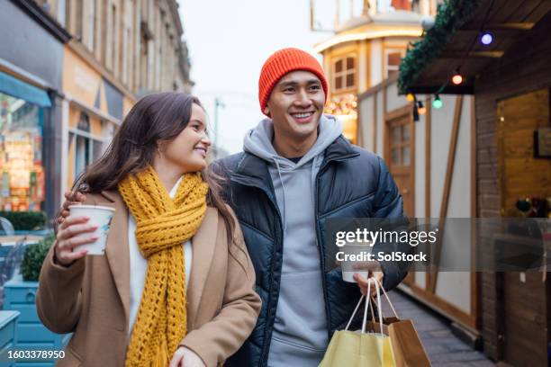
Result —
<svg viewBox="0 0 551 367"><path fill-rule="evenodd" d="M268 118L248 131L244 152L213 164L226 178L263 301L255 330L227 365L317 366L360 297L357 285L343 282L326 261L326 221L403 216L383 160L351 145L339 121L323 115L327 94L315 58L300 49L277 51L258 81ZM371 275L388 291L407 269L382 265ZM367 280L355 280L366 294Z"/></svg>

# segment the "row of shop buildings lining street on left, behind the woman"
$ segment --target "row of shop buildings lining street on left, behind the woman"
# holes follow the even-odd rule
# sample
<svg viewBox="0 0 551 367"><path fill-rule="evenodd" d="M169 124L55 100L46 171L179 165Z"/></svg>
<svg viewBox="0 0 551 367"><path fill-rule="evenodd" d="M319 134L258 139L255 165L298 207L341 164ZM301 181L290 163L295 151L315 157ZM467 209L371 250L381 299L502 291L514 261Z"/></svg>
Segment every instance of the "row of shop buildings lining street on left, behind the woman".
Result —
<svg viewBox="0 0 551 367"><path fill-rule="evenodd" d="M45 210L137 98L189 92L176 0L0 2L0 210Z"/></svg>

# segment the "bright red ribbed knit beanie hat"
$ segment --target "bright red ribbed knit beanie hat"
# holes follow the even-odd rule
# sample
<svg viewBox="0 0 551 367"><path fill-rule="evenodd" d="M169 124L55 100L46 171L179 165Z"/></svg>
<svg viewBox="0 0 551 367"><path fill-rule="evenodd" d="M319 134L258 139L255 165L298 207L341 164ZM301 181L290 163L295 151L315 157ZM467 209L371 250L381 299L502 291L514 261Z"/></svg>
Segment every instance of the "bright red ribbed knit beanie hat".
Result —
<svg viewBox="0 0 551 367"><path fill-rule="evenodd" d="M302 49L280 49L266 60L258 78L258 101L262 113L279 79L295 70L309 71L318 76L327 102L327 79L318 60Z"/></svg>

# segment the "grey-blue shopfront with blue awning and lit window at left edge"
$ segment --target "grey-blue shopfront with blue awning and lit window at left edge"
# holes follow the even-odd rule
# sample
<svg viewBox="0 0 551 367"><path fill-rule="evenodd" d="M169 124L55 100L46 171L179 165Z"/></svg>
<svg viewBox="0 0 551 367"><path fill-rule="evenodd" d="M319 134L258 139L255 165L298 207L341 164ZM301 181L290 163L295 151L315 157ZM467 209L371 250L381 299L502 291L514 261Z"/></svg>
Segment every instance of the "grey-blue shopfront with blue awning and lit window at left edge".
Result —
<svg viewBox="0 0 551 367"><path fill-rule="evenodd" d="M70 35L32 2L0 2L1 208L55 212L62 62Z"/></svg>

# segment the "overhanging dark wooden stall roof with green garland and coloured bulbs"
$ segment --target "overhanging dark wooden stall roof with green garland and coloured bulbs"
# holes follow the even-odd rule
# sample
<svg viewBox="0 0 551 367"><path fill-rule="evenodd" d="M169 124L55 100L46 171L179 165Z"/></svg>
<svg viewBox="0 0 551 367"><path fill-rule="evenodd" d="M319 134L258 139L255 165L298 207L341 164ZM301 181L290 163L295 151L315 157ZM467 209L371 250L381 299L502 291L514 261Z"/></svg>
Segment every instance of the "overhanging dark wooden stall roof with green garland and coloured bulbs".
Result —
<svg viewBox="0 0 551 367"><path fill-rule="evenodd" d="M402 59L400 93L473 94L477 76L500 63L538 23L548 21L549 12L547 0L446 0L438 7L434 27ZM489 44L482 42L484 33L492 36ZM456 71L463 76L460 85L451 83Z"/></svg>

